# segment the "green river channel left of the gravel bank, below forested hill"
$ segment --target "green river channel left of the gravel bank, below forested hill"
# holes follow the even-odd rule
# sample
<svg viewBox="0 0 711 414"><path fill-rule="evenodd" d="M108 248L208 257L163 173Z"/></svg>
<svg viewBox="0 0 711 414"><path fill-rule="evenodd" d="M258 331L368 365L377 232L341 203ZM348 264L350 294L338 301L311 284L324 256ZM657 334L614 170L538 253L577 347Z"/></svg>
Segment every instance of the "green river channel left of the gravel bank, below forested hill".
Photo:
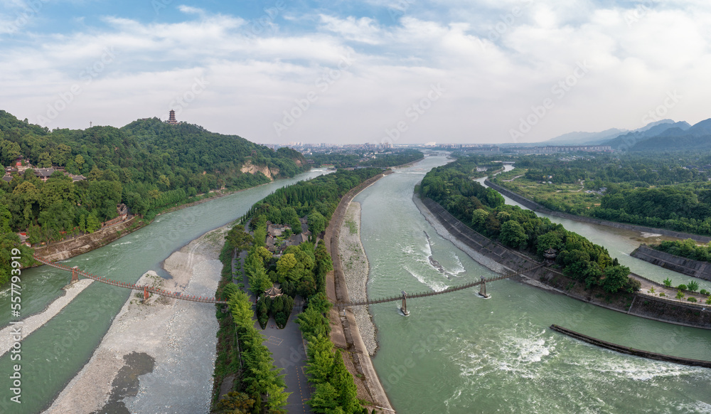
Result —
<svg viewBox="0 0 711 414"><path fill-rule="evenodd" d="M149 270L167 277L161 263L183 245L208 230L235 221L252 204L276 189L322 174L326 171L309 171L293 179L274 181L166 213L145 228L63 263L121 282L136 282ZM63 293L61 288L68 284L70 277L69 272L48 266L23 270L22 317L45 309ZM94 282L57 316L22 341L21 404L9 401L13 394L8 377L11 366L18 361L11 361L11 354L3 356L0 359L4 378L0 381L0 413L38 413L46 408L90 359L129 293L126 289ZM9 287L0 292L0 309L7 309L0 312L0 327L5 327L10 321Z"/></svg>

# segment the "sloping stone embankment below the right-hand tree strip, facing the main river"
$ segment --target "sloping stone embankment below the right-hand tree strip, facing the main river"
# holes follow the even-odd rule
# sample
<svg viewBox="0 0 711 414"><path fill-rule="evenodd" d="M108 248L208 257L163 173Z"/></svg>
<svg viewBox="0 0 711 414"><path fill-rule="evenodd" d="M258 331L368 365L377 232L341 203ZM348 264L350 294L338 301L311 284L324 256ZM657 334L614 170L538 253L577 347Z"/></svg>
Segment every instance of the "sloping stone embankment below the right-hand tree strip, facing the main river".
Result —
<svg viewBox="0 0 711 414"><path fill-rule="evenodd" d="M460 243L466 245L468 248L464 250L466 253L472 250L476 253L476 255L471 255L471 258L489 267L491 270L499 273L502 272L501 270L497 270L496 266L491 263L491 260L503 266L504 271L513 272L521 272L538 262L538 260L523 252L507 248L501 245L501 243L477 233L429 198L424 198L422 201L416 202L416 204L428 221L432 223L432 221L436 220L439 223L438 226L435 226L437 233L444 237L446 237L446 233L450 233L450 237L454 237L456 240L459 240ZM444 232L444 234L441 232ZM486 258L486 260L481 260L482 256ZM631 274L631 277L641 280L643 286L646 288L663 288L663 285L647 280L639 275ZM545 288L548 290L555 290L574 299L579 299L583 302L612 309L617 312L624 312L626 314L672 324L711 329L711 312L705 312L703 310L706 305L686 304L674 299L655 297L643 292L621 295L608 300L606 295L592 294L592 292L584 289L584 284L581 286L579 282L570 279L562 272L551 267L540 267L537 270L522 273L520 280L538 287L545 285Z"/></svg>

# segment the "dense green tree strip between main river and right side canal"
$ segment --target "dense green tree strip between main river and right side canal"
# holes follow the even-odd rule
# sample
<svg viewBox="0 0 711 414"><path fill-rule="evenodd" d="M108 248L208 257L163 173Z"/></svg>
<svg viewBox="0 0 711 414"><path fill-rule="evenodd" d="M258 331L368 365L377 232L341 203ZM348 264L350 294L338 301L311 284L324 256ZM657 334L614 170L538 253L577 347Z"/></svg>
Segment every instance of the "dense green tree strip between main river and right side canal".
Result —
<svg viewBox="0 0 711 414"><path fill-rule="evenodd" d="M479 233L511 248L528 250L540 258L546 250L555 249L556 264L565 275L584 282L587 289L599 287L608 293L638 290L639 282L629 278L629 267L619 265L606 248L533 211L508 206L501 194L472 181L473 159L461 157L429 171L422 179L421 195L437 201Z"/></svg>

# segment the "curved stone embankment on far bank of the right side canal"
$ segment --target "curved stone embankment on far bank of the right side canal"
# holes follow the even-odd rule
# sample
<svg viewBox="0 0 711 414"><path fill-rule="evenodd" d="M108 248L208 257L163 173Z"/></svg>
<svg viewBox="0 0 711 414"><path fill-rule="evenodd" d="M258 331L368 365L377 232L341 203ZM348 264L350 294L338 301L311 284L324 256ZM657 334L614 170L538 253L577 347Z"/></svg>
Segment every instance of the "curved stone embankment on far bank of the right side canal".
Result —
<svg viewBox="0 0 711 414"><path fill-rule="evenodd" d="M635 231L639 231L641 233L657 233L657 234L661 234L661 235L668 235L670 237L675 237L675 238L690 238L690 239L693 239L696 241L700 241L701 243L708 243L711 241L711 237L707 237L705 235L681 233L680 231L667 230L665 228L646 227L643 225L616 223L614 221L599 220L597 218L591 218L591 217L585 217L585 216L575 216L574 214L570 214L570 213L562 213L560 211L553 211L550 208L541 206L539 203L536 203L533 200L530 200L528 198L525 198L524 196L521 196L520 194L514 193L513 191L510 191L509 189L505 189L502 186L499 186L498 184L494 184L490 180L485 180L484 184L486 184L487 186L490 186L492 189L495 189L499 193L502 193L504 196L507 196L508 198L512 199L516 203L519 203L522 206L525 206L526 208L530 208L533 211L538 211L538 213L547 214L548 216L567 218L568 220L581 221L582 223L606 225L607 227L621 228L624 230L635 230Z"/></svg>

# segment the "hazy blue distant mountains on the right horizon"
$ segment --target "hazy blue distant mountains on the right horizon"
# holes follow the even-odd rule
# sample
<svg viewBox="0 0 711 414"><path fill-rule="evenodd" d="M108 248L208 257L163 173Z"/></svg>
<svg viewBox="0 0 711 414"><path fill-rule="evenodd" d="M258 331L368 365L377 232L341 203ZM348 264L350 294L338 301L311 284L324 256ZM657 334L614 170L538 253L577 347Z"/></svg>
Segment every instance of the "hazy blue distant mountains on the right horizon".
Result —
<svg viewBox="0 0 711 414"><path fill-rule="evenodd" d="M612 128L602 132L570 132L536 145L609 145L630 151L711 149L711 119L694 125L661 120L632 131Z"/></svg>

